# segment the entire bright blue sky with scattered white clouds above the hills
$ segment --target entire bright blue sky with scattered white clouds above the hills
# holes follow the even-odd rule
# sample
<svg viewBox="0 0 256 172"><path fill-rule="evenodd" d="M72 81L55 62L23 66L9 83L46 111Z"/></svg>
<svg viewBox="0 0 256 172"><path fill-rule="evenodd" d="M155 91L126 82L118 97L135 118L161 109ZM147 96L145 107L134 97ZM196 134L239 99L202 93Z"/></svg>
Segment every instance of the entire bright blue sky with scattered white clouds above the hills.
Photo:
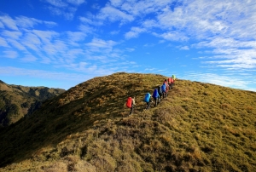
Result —
<svg viewBox="0 0 256 172"><path fill-rule="evenodd" d="M114 72L256 91L253 0L1 0L0 79L69 89Z"/></svg>

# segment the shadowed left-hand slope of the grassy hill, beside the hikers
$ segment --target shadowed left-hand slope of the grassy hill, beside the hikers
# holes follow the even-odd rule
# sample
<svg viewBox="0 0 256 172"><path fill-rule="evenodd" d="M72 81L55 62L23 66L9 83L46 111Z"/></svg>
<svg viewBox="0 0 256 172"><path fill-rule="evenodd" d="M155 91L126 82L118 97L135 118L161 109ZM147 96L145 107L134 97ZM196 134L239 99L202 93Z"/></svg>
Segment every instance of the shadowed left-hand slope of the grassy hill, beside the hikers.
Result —
<svg viewBox="0 0 256 172"><path fill-rule="evenodd" d="M0 164L29 158L41 147L55 145L67 135L89 129L96 120L122 117L127 95L138 95L143 100L144 92L152 90L147 83L160 83L163 78L117 73L80 83L45 102L32 117L3 129Z"/></svg>

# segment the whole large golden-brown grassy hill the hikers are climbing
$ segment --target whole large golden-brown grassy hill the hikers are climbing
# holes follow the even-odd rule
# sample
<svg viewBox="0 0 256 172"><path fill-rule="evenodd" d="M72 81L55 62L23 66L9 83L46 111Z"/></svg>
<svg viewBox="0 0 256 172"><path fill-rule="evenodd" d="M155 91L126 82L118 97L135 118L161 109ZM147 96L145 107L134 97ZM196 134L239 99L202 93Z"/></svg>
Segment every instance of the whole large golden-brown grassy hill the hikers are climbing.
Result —
<svg viewBox="0 0 256 172"><path fill-rule="evenodd" d="M0 170L256 171L256 93L177 80L144 111L165 78L115 73L47 101L1 131Z"/></svg>

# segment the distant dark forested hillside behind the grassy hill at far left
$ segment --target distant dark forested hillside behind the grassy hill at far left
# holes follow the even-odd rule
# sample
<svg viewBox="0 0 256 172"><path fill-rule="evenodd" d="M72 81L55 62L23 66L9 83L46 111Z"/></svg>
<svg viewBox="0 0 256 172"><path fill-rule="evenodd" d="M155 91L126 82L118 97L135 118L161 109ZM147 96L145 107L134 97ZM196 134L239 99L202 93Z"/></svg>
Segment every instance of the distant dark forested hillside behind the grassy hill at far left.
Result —
<svg viewBox="0 0 256 172"><path fill-rule="evenodd" d="M42 101L63 93L64 89L46 87L23 87L9 85L0 80L0 127L16 123L32 114Z"/></svg>

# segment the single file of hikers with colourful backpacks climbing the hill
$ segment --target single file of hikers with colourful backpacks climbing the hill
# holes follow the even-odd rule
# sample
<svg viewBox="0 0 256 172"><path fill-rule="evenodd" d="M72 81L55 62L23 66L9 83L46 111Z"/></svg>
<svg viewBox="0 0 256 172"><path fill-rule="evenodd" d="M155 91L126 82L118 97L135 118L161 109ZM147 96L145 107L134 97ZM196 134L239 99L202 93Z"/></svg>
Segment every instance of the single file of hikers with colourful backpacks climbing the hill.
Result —
<svg viewBox="0 0 256 172"><path fill-rule="evenodd" d="M173 88L175 80L176 76L172 75L172 77L165 79L162 85L155 88L152 95L150 95L150 93L147 93L143 100L147 104L145 110L147 110L150 106L150 103L153 102L152 98L154 99L154 106L157 106L160 103L160 100L165 99L168 95L168 91ZM131 109L131 114L133 112L134 106L136 106L135 97L128 97L128 99L126 100L126 106Z"/></svg>

